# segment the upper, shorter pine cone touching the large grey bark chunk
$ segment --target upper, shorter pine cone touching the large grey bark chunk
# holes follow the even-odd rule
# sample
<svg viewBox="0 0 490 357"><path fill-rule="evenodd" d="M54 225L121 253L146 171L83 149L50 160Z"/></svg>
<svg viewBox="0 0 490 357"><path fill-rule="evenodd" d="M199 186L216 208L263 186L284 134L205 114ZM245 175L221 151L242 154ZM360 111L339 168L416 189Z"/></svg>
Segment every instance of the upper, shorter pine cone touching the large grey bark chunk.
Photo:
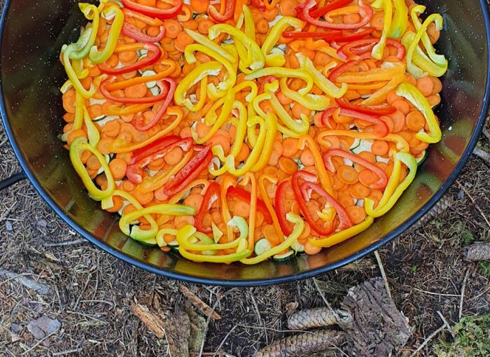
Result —
<svg viewBox="0 0 490 357"><path fill-rule="evenodd" d="M316 309L297 311L288 318L288 328L290 330L307 330L339 323L342 325L352 323L352 316L349 311L317 307Z"/></svg>

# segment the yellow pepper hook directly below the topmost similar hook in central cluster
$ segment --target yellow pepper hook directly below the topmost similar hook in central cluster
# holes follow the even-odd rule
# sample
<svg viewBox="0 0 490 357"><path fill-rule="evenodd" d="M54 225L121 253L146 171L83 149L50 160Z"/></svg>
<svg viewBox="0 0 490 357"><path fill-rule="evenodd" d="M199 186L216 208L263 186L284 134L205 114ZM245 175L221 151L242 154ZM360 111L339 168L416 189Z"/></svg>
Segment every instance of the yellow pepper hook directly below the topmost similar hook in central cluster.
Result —
<svg viewBox="0 0 490 357"><path fill-rule="evenodd" d="M228 78L219 83L218 88L216 88L213 83L209 83L208 85L209 97L211 97L211 99L216 100L219 97L223 97L226 94L226 91L235 85L235 82L237 81L237 72L233 68L232 64L225 59L225 57L221 56L218 52L198 43L193 43L192 45L186 46L186 50L184 51L186 61L191 64L195 63L196 58L194 56L194 52L197 51L203 52L209 57L216 59L216 61L223 64L225 69L228 71Z"/></svg>

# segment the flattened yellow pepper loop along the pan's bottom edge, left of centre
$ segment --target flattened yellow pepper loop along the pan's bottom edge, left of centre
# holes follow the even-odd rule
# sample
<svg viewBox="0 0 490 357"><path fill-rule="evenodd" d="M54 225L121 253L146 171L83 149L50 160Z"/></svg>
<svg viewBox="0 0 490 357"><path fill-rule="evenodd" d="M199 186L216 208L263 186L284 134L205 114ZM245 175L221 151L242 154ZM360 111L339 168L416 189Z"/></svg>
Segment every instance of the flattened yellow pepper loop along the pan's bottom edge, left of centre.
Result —
<svg viewBox="0 0 490 357"><path fill-rule="evenodd" d="M230 262L235 262L237 260L243 259L247 257L248 255L251 254L251 251L248 251L248 249L241 249L241 246L246 246L246 240L244 238L241 239L236 239L237 242L232 241L231 244L190 244L188 243L189 239L192 239L194 235L200 237L200 239L207 237L207 235L200 235L199 232L192 226L192 225L185 225L183 228L181 228L177 232L177 241L179 242L179 253L181 255L188 259L188 260L193 260L195 262L225 262L225 263L230 263ZM209 237L208 237L209 238ZM211 239L211 238L209 238ZM207 239L205 239L207 240ZM202 239L204 241L204 239ZM189 244L193 248L204 248L204 251L202 254L196 254L196 253L189 253L185 246L186 244ZM219 247L218 249L226 249L223 248L223 246L231 246L230 248L235 248L237 246L237 252L232 253L232 254L227 254L227 255L206 255L204 254L205 251L214 251L216 249L209 249L209 247ZM193 251L197 249L192 249Z"/></svg>

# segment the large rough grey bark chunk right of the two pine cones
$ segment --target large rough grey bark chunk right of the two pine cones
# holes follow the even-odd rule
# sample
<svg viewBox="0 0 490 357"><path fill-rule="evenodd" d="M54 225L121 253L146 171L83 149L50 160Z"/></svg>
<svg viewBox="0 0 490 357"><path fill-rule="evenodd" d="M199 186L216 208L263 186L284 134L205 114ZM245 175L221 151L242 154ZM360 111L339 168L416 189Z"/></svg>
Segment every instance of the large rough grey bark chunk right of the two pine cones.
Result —
<svg viewBox="0 0 490 357"><path fill-rule="evenodd" d="M411 335L408 319L388 297L381 278L349 289L342 307L353 318L352 325L339 324L347 335L344 352L348 356L388 356L399 351Z"/></svg>

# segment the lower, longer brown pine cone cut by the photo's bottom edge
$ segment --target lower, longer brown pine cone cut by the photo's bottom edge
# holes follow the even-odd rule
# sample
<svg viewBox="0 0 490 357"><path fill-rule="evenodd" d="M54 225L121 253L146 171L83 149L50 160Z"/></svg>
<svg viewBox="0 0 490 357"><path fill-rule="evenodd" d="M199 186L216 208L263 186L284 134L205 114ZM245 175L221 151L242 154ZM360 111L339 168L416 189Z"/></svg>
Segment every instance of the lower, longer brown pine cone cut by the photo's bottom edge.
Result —
<svg viewBox="0 0 490 357"><path fill-rule="evenodd" d="M295 357L310 356L313 353L339 347L345 342L344 332L319 330L303 332L272 342L269 346L255 352L254 357ZM325 354L328 356L328 354Z"/></svg>

